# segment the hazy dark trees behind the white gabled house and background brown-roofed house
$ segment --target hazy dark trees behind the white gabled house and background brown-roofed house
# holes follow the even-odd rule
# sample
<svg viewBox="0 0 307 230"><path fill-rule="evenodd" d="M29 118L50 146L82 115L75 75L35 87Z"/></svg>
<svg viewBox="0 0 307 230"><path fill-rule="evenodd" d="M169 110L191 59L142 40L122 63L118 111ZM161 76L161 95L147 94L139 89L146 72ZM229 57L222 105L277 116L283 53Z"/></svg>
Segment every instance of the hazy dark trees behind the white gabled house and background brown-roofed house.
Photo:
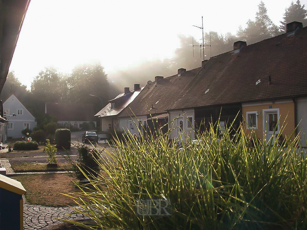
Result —
<svg viewBox="0 0 307 230"><path fill-rule="evenodd" d="M118 91L108 82L101 64L91 64L76 67L67 75L54 68L46 68L33 79L31 90L21 84L14 72L9 72L1 93L2 101L12 93L41 123L46 102L90 103L94 105L95 112L98 112ZM98 96L102 102L90 94Z"/></svg>

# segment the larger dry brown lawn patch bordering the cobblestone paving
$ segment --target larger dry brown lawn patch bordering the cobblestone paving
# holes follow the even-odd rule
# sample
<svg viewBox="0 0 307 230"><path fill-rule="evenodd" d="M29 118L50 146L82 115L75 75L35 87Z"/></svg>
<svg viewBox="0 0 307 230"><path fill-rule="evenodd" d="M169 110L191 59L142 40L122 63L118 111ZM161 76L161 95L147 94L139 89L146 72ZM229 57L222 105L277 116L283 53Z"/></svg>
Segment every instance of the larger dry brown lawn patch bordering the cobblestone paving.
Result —
<svg viewBox="0 0 307 230"><path fill-rule="evenodd" d="M72 182L74 178L68 173L17 175L12 178L24 186L30 204L51 207L76 205L71 198L60 194L79 192Z"/></svg>

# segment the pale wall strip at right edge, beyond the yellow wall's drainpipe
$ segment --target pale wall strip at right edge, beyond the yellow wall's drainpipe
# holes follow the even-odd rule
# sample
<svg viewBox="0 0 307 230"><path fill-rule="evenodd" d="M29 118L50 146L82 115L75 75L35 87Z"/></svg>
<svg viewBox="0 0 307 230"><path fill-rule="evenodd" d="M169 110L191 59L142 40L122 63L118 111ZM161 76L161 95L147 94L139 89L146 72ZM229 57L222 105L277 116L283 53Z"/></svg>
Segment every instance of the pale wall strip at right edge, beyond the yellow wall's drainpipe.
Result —
<svg viewBox="0 0 307 230"><path fill-rule="evenodd" d="M307 97L298 98L296 106L297 123L299 123L297 131L300 132L302 146L306 147L305 136L307 139Z"/></svg>

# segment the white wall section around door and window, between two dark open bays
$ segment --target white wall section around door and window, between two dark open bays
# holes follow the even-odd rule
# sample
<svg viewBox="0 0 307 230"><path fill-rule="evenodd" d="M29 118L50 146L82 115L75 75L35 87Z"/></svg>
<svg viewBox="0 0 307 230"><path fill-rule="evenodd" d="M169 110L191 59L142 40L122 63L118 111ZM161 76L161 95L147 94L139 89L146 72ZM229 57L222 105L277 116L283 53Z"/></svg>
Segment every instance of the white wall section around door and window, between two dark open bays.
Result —
<svg viewBox="0 0 307 230"><path fill-rule="evenodd" d="M195 124L195 116L194 116L194 109L180 109L180 110L171 110L169 111L169 129L170 135L169 139L175 140L175 141L182 141L185 142L185 136L182 134L179 129L179 121L182 119L183 121L183 133L186 136L190 136L192 140L195 139L195 133L193 131L193 128L188 128L188 119L187 117L192 117L192 125ZM181 138L180 138L181 135Z"/></svg>

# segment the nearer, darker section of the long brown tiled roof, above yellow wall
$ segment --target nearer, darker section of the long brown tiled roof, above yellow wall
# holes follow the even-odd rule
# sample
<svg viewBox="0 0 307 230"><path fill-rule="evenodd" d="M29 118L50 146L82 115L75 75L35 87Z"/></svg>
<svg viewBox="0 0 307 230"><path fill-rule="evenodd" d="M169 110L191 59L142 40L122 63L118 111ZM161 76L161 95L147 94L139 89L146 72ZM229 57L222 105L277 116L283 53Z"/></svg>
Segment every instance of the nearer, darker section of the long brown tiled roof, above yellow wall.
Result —
<svg viewBox="0 0 307 230"><path fill-rule="evenodd" d="M168 109L306 95L306 60L307 27L215 56Z"/></svg>

